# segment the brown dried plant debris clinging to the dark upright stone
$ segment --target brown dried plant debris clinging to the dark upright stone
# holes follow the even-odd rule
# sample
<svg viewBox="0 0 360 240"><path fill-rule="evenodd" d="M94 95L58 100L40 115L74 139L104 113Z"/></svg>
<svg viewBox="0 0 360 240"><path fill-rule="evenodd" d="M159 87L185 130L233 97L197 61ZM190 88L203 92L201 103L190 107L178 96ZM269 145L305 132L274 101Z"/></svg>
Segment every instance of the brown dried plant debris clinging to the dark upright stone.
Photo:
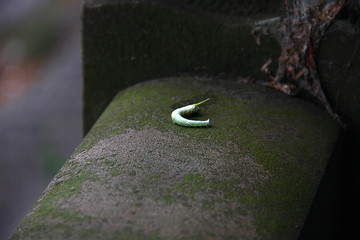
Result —
<svg viewBox="0 0 360 240"><path fill-rule="evenodd" d="M344 0L331 5L320 2L315 7L306 5L303 0L294 0L292 5L288 0L284 1L288 15L283 22L282 52L276 75L271 75L267 68L268 62L262 67L262 71L271 78L267 85L288 95L296 95L305 90L319 100L333 119L345 127L321 88L314 58L325 30L342 8Z"/></svg>

